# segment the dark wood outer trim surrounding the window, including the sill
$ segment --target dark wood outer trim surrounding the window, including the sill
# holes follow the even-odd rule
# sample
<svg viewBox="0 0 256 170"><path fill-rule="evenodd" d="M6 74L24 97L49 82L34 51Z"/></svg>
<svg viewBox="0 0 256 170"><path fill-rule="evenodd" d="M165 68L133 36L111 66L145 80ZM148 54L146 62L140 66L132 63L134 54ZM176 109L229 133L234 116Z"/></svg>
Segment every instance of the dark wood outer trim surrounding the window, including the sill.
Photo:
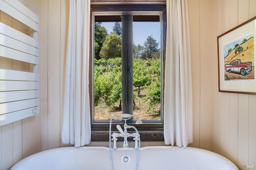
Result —
<svg viewBox="0 0 256 170"><path fill-rule="evenodd" d="M90 63L93 63L93 43L92 43L92 34L94 30L93 24L93 12L126 12L126 11L154 11L154 12L162 12L162 53L163 53L163 61L162 61L162 70L164 70L165 66L165 45L166 45L166 0L154 0L154 1L136 1L136 0L91 0L91 18L90 18ZM102 21L104 18L102 18ZM109 20L109 18L107 19ZM116 21L116 19L113 19ZM138 20L143 20L140 18ZM94 110L94 100L93 98L93 64L90 64L90 111L91 111L91 132L92 132L92 141L109 141L109 121L93 121L92 120L92 112ZM163 73L164 74L164 73ZM164 75L162 75L164 77ZM163 82L164 84L164 82ZM163 91L164 89L162 89ZM117 132L116 125L123 124L122 121L115 121L112 123L112 132ZM138 131L140 132L141 141L164 141L164 132L163 132L163 120L159 122L152 123L151 121L143 121L141 125L134 125ZM132 139L130 139L132 140ZM121 141L121 140L120 140Z"/></svg>

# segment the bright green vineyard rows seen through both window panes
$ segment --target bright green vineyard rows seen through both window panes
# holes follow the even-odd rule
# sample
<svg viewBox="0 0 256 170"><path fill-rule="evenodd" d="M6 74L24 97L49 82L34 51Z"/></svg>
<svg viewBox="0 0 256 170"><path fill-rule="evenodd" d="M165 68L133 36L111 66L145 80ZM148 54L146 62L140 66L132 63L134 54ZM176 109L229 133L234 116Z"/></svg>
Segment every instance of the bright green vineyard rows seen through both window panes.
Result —
<svg viewBox="0 0 256 170"><path fill-rule="evenodd" d="M98 106L102 100L106 106L114 108L114 104L122 100L122 59L100 59L94 61L94 101ZM134 58L133 85L139 88L148 87L144 102L149 101L148 110L160 104L160 59ZM136 91L136 89L134 89Z"/></svg>

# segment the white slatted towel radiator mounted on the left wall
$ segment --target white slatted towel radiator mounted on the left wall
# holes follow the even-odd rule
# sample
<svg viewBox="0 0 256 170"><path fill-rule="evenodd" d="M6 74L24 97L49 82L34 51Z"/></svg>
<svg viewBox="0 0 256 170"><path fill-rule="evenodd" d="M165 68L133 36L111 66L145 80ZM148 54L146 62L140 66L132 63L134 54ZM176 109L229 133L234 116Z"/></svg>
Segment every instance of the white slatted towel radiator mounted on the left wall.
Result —
<svg viewBox="0 0 256 170"><path fill-rule="evenodd" d="M0 0L1 20L25 25L20 31L0 22L0 126L39 113L39 17L18 0ZM4 15L3 15L4 14ZM1 62L2 59L2 62ZM27 63L28 70L7 66L4 59ZM9 64L10 65L10 64Z"/></svg>

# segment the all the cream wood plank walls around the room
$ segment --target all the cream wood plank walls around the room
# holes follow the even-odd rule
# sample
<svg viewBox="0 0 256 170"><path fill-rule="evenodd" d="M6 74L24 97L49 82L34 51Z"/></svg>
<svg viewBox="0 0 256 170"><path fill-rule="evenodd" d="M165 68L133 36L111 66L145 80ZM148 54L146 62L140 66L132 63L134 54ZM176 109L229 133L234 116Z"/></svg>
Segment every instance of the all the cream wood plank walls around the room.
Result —
<svg viewBox="0 0 256 170"><path fill-rule="evenodd" d="M0 127L0 170L34 152L67 146L61 144L61 127L69 0L20 1L40 16L40 115ZM256 96L218 92L217 36L256 16L255 8L256 0L188 0L194 111L190 146L222 154L242 170L248 169L242 163L256 162ZM0 63L27 69L1 58ZM164 144L142 143L159 145Z"/></svg>

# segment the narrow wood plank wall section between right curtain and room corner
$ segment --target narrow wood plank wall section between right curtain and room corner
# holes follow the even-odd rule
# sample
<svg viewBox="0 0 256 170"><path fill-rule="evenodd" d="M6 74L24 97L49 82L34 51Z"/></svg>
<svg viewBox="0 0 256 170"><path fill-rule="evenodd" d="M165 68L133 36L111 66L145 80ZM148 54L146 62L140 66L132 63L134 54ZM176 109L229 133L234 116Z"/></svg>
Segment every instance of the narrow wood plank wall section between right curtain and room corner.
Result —
<svg viewBox="0 0 256 170"><path fill-rule="evenodd" d="M211 149L210 0L188 0L193 90L193 143Z"/></svg>

